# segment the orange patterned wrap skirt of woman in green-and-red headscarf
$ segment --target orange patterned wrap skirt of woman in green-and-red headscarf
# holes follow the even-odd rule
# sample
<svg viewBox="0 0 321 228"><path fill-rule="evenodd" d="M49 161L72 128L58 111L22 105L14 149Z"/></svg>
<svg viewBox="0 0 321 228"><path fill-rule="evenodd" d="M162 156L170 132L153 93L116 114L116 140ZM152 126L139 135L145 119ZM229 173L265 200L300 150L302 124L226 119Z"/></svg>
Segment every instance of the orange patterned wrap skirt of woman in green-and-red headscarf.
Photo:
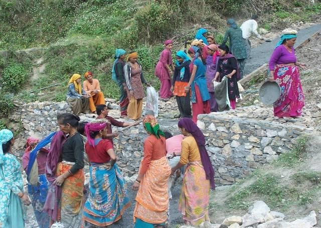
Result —
<svg viewBox="0 0 321 228"><path fill-rule="evenodd" d="M150 162L136 195L134 222L136 218L152 224L167 221L170 175L171 167L166 157Z"/></svg>

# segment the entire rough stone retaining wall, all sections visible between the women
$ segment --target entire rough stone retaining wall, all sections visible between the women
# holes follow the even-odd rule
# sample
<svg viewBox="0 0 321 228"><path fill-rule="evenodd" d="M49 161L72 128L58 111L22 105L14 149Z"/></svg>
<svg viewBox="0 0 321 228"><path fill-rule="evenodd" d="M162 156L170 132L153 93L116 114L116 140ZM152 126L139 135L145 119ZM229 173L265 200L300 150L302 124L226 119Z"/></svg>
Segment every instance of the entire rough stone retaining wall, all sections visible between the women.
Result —
<svg viewBox="0 0 321 228"><path fill-rule="evenodd" d="M12 121L21 121L23 131L16 149L23 153L29 136L44 137L58 129L58 112L70 112L66 102L35 102L20 105ZM119 116L119 110L111 110L110 116ZM91 115L92 118L92 115ZM90 121L88 116L82 120ZM281 121L281 122L280 122ZM179 134L177 120L158 119L163 130ZM312 125L310 123L310 125ZM259 106L200 115L198 126L207 140L207 150L212 159L218 185L240 181L258 166L272 162L279 154L290 150L295 139L314 131L305 119L276 120L271 110ZM142 125L125 131L113 128L120 134L114 139L117 164L125 176L137 173L142 154L143 141L147 137Z"/></svg>

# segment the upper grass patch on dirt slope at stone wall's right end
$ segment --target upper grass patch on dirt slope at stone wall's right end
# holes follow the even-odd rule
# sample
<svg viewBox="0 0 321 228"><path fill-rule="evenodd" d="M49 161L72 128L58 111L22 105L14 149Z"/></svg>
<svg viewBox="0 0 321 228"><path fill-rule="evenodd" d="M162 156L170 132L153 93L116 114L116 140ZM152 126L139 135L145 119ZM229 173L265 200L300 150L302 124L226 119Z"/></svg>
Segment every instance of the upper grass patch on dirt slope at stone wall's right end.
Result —
<svg viewBox="0 0 321 228"><path fill-rule="evenodd" d="M285 167L297 165L306 157L305 145L307 140L307 136L301 136L298 138L291 151L281 154L275 163Z"/></svg>

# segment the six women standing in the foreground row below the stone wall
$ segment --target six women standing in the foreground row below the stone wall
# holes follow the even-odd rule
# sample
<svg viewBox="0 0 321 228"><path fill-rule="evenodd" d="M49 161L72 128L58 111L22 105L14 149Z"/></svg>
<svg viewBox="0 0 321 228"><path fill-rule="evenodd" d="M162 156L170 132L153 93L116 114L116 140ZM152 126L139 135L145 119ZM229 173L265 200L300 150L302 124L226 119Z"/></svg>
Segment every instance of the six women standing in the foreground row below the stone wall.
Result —
<svg viewBox="0 0 321 228"><path fill-rule="evenodd" d="M32 203L38 225L48 228L61 221L64 227L106 227L119 220L130 205L126 183L116 164L113 144L105 139L107 123L96 120L85 124L87 142L77 132L79 117L64 113L57 117L60 130L45 139L30 137L23 157L29 182L24 193L20 163L12 152L13 133L0 131L0 227L24 227L25 205ZM178 127L185 136L180 163L171 169L166 157L166 140L156 119L147 115L143 126L149 135L143 146L144 157L133 189L138 190L134 208L135 227L165 225L169 218L168 180L188 165L180 198L186 224L209 221L210 188L214 170L205 149L205 137L190 118ZM45 145L51 143L50 149ZM89 194L84 202L84 148L90 163ZM32 177L36 167L36 183ZM34 180L33 180L34 181Z"/></svg>

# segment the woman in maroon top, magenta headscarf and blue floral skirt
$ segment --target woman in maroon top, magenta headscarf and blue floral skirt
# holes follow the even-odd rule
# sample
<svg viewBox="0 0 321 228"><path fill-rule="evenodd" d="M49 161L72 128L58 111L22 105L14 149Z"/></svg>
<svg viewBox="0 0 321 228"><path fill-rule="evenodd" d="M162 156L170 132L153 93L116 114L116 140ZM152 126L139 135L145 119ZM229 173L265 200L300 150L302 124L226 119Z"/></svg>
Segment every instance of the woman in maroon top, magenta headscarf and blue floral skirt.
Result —
<svg viewBox="0 0 321 228"><path fill-rule="evenodd" d="M119 220L130 205L126 184L116 165L116 154L107 135L107 124L85 125L90 161L89 196L84 206L83 227L106 227Z"/></svg>

